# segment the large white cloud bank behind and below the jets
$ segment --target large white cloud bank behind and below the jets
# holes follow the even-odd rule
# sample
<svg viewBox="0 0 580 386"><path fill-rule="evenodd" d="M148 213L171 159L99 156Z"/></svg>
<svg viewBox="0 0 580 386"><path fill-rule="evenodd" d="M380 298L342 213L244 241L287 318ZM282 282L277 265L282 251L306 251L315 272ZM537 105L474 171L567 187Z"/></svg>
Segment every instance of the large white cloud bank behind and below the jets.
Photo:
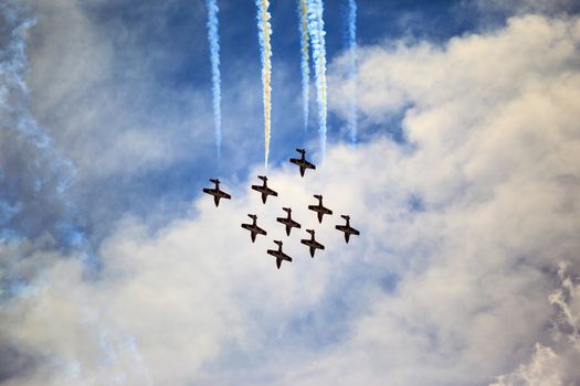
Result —
<svg viewBox="0 0 580 386"><path fill-rule="evenodd" d="M39 360L8 384L481 385L538 361L541 379L569 377L549 373L571 354L547 345L547 325L557 261L579 264L579 31L524 17L443 49L361 50L366 122L411 104L408 143L333 147L304 180L271 171L281 196L266 206L251 178L158 232L128 217L102 245L98 280L30 256L54 262L0 317ZM347 99L337 66L331 101ZM321 227L312 193L335 210ZM264 251L286 240L274 222L286 203L327 249L310 259L293 234L278 271ZM251 244L240 223L254 211L268 237ZM341 213L361 230L349 245Z"/></svg>

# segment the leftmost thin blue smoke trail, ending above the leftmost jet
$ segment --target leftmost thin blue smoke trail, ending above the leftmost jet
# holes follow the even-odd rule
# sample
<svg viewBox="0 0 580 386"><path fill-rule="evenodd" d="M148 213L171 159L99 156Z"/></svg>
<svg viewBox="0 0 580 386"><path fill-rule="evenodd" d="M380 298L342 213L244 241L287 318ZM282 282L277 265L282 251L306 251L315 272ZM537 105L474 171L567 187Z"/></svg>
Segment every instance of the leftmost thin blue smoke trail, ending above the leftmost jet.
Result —
<svg viewBox="0 0 580 386"><path fill-rule="evenodd" d="M218 159L221 156L222 111L221 111L221 74L220 74L220 33L218 21L218 0L207 0L208 6L208 40L210 43L211 82L213 101L213 121L215 125L215 150Z"/></svg>

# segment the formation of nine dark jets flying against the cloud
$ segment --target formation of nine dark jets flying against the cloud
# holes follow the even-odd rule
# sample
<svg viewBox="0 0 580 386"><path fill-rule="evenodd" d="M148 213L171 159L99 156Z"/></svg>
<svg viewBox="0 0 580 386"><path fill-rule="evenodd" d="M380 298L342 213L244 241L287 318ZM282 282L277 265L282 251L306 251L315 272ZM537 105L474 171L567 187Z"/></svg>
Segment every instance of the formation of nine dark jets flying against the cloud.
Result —
<svg viewBox="0 0 580 386"><path fill-rule="evenodd" d="M316 165L314 165L312 162L308 162L305 158L306 151L304 149L296 149L300 153L299 159L291 158L289 162L296 164L299 167L300 175L304 176L304 172L306 169L316 170ZM260 180L262 180L262 185L252 185L252 190L259 192L262 196L262 203L266 203L267 196L274 196L276 197L278 193L274 191L273 189L267 186L267 176L265 175L259 175ZM205 187L203 189L203 192L207 194L210 194L213 196L213 201L215 203L215 206L219 206L220 199L226 199L231 200L232 196L224 191L220 190L220 180L219 179L210 179L211 182L215 184L213 189ZM308 205L308 210L316 212L318 223L323 223L323 216L326 215L333 215L333 211L328 207L323 205L323 196L319 194L315 194L314 197L318 200L318 204L316 205ZM284 212L286 212L285 217L276 217L276 222L284 225L286 229L286 236L291 235L292 228L302 228L302 225L292 218L292 208L289 207L283 207ZM267 232L263 228L261 228L257 225L257 215L255 214L247 214L250 218L252 218L252 224L242 224L242 228L250 230L250 237L252 239L252 243L255 242L257 235L267 235ZM360 235L360 232L355 229L352 226L350 226L350 216L349 215L340 215L344 219L346 219L346 224L344 225L336 225L335 228L342 232L345 234L345 242L348 244L350 239L350 235ZM300 239L300 243L306 245L309 248L310 257L314 258L314 254L316 253L316 249L324 250L325 246L317 242L315 239L315 230L314 229L306 229L306 232L310 235L309 238ZM274 240L274 243L278 246L277 249L267 249L267 255L272 255L276 258L276 266L280 269L282 261L292 261L292 257L286 255L282 250L283 243L282 240Z"/></svg>

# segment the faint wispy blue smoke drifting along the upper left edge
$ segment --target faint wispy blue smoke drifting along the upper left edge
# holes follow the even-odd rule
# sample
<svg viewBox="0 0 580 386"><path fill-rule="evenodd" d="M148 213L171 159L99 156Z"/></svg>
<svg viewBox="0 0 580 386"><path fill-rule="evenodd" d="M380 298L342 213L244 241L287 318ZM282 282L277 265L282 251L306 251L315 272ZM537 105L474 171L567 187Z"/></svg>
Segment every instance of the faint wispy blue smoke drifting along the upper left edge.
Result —
<svg viewBox="0 0 580 386"><path fill-rule="evenodd" d="M67 218L63 193L74 168L34 119L25 83L27 36L35 24L25 8L0 6L0 240L59 230Z"/></svg>

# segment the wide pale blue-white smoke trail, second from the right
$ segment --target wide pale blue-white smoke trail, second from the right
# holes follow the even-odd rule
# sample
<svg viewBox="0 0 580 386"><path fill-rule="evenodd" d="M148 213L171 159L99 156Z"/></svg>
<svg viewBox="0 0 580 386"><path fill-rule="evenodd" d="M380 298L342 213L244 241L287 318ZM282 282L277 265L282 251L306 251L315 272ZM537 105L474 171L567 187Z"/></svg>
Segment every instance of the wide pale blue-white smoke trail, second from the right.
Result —
<svg viewBox="0 0 580 386"><path fill-rule="evenodd" d="M318 133L320 153L326 156L326 43L323 20L323 1L308 0L308 33L312 41L314 74L316 78L316 101L318 104Z"/></svg>

